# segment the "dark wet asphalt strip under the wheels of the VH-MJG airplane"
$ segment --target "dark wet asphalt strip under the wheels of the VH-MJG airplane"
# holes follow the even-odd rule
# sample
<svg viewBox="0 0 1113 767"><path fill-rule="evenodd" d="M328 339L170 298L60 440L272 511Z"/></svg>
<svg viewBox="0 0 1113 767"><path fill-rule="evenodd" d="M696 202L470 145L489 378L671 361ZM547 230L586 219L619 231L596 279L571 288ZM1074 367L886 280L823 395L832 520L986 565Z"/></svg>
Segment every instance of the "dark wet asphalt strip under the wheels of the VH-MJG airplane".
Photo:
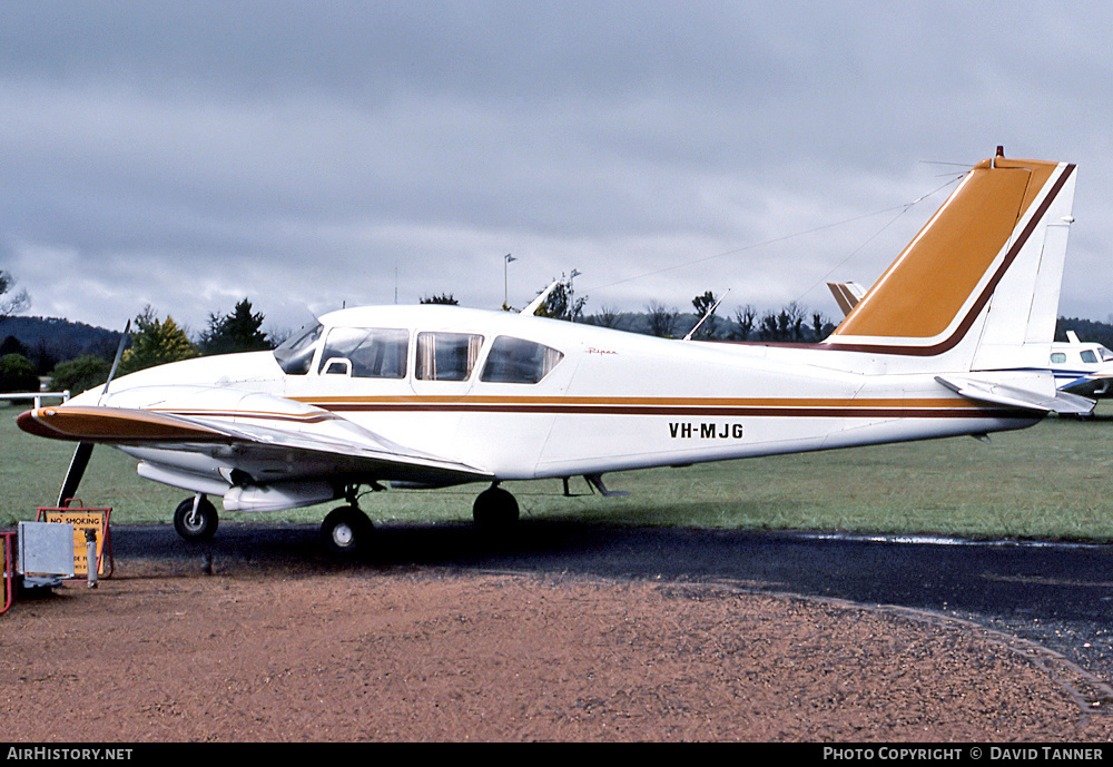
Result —
<svg viewBox="0 0 1113 767"><path fill-rule="evenodd" d="M523 520L492 540L470 524L378 525L355 560L314 524L221 521L208 543L170 525L112 528L115 558L229 564L449 569L725 582L752 591L895 606L967 620L1060 653L1113 685L1113 545L798 532L642 529Z"/></svg>

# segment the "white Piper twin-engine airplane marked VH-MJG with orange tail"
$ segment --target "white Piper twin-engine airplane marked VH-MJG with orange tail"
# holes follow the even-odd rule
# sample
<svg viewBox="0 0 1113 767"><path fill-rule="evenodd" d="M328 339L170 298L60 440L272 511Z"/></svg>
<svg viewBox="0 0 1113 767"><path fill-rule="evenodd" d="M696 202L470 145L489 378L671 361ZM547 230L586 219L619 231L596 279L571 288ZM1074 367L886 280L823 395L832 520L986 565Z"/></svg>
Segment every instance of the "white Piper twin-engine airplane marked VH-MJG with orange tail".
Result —
<svg viewBox="0 0 1113 767"><path fill-rule="evenodd" d="M19 416L190 491L188 540L226 510L345 499L322 533L367 544L361 486L481 482L476 524L518 503L500 483L1032 425L1093 401L1056 391L1055 330L1075 166L975 166L838 328L810 345L673 341L455 306L351 308L273 353L203 357Z"/></svg>

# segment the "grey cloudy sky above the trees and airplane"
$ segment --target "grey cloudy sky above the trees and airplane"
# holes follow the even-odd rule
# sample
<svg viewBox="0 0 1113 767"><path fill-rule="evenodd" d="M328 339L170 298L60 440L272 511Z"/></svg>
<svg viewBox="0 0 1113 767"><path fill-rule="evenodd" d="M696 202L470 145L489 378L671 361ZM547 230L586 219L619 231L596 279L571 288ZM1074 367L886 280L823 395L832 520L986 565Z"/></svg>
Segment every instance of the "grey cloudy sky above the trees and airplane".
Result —
<svg viewBox="0 0 1113 767"><path fill-rule="evenodd" d="M589 313L834 316L824 282L999 144L1078 164L1061 313L1104 321L1111 33L1099 2L8 0L0 268L107 327L495 308L508 253L516 306L579 269Z"/></svg>

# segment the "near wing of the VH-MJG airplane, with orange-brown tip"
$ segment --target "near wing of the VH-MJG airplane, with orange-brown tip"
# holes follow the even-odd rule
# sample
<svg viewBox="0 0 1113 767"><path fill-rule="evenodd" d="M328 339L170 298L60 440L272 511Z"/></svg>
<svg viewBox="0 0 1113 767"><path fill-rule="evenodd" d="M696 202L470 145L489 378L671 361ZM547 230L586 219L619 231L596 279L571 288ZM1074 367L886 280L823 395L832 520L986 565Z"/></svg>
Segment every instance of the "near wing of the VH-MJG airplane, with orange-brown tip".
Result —
<svg viewBox="0 0 1113 767"><path fill-rule="evenodd" d="M18 421L23 431L52 439L200 453L257 481L347 475L452 484L491 479L481 469L412 450L319 407L264 394L233 399L225 390L157 407L39 407Z"/></svg>

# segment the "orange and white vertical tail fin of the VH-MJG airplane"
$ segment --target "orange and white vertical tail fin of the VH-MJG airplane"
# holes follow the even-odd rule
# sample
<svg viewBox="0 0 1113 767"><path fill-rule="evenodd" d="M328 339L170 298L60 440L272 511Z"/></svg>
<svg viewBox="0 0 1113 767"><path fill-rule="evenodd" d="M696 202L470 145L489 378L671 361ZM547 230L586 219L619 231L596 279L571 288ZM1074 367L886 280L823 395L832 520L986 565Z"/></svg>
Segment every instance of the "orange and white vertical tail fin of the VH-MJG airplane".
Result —
<svg viewBox="0 0 1113 767"><path fill-rule="evenodd" d="M978 163L825 343L947 355L947 370L1045 363L1074 167L999 155Z"/></svg>

